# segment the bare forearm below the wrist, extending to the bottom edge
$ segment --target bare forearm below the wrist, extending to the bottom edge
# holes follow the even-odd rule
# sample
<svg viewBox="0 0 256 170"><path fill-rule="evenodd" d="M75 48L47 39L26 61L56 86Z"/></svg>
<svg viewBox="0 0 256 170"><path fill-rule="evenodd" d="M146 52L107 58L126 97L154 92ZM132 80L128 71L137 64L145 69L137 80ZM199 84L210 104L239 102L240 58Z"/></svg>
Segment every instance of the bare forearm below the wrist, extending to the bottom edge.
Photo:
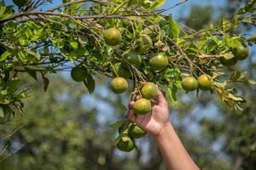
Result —
<svg viewBox="0 0 256 170"><path fill-rule="evenodd" d="M168 125L155 136L160 152L164 157L168 169L172 170L198 170L199 167L189 156L182 142L177 137L172 124Z"/></svg>

